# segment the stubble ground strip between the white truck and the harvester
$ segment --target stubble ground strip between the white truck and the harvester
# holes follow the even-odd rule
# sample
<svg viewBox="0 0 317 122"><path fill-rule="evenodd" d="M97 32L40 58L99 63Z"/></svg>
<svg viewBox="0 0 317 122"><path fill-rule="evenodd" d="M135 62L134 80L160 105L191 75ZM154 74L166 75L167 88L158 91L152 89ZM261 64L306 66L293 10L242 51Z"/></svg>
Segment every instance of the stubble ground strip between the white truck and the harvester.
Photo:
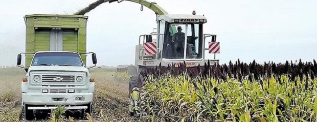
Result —
<svg viewBox="0 0 317 122"><path fill-rule="evenodd" d="M128 77L115 72L94 72L96 80L93 117L100 121L137 121L128 113Z"/></svg>

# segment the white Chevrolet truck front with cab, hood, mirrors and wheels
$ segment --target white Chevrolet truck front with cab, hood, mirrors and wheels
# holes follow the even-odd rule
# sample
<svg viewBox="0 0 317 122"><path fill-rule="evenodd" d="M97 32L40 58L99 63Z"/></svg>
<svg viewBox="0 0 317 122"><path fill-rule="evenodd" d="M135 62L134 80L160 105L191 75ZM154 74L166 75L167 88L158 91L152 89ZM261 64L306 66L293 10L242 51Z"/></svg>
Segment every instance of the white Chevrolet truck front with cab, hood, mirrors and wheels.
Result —
<svg viewBox="0 0 317 122"><path fill-rule="evenodd" d="M80 55L70 51L38 51L27 69L20 66L21 53L18 54L17 65L27 71L21 82L21 105L26 119L34 118L34 110L54 109L59 104L90 114L95 82L88 69L94 66L85 67ZM96 66L95 53L92 58Z"/></svg>

